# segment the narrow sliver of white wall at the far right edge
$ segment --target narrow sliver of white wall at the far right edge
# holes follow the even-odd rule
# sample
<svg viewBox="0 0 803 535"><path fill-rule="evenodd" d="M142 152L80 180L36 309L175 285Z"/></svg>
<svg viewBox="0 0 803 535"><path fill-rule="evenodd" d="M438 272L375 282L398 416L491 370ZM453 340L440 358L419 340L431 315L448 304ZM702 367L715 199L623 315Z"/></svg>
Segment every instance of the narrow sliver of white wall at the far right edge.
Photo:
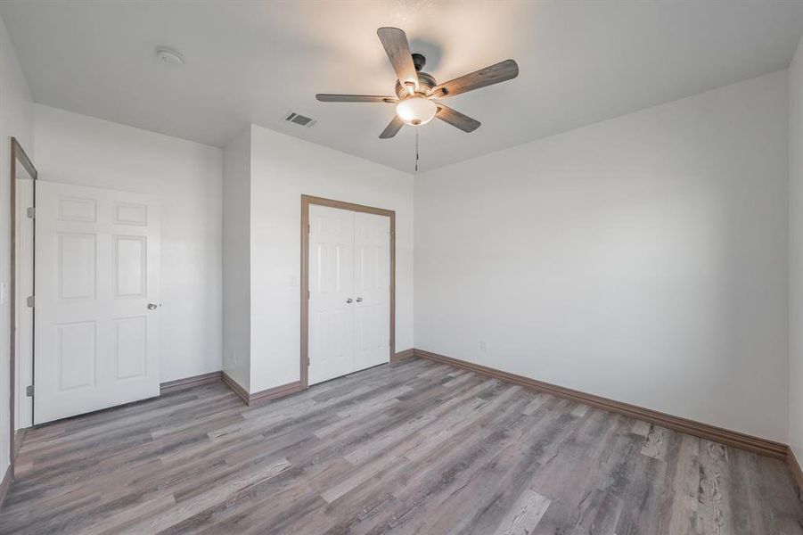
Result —
<svg viewBox="0 0 803 535"><path fill-rule="evenodd" d="M789 67L789 445L803 461L803 40Z"/></svg>

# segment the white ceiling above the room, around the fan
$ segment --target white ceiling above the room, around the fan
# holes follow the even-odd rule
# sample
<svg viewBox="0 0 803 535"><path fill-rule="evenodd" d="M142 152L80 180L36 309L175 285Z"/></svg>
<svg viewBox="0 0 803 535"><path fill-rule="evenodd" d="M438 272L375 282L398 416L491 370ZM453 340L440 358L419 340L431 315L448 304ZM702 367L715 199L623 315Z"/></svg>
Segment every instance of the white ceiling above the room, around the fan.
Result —
<svg viewBox="0 0 803 535"><path fill-rule="evenodd" d="M376 29L405 29L438 81L513 58L520 76L448 104L482 122L421 128L421 170L788 66L803 2L4 2L37 103L224 146L248 123L412 171L413 128L378 139L392 95ZM159 45L185 64L160 64ZM283 122L285 111L317 119Z"/></svg>

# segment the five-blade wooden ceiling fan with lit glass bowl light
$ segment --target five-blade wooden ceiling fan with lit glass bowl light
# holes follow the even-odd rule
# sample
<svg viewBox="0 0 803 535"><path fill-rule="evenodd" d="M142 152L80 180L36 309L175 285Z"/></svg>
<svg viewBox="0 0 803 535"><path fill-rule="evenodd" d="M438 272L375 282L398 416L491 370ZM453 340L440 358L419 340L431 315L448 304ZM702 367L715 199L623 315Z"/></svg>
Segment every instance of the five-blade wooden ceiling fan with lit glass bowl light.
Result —
<svg viewBox="0 0 803 535"><path fill-rule="evenodd" d="M376 33L388 53L390 64L396 70L397 96L318 94L315 98L322 103L396 104L396 117L380 134L381 139L396 136L406 124L417 127L430 122L433 117L460 128L463 132L473 132L479 128L479 120L471 119L436 99L460 95L519 76L519 65L513 60L505 60L445 84L437 84L431 74L422 71L426 58L420 53L410 53L404 30L380 28Z"/></svg>

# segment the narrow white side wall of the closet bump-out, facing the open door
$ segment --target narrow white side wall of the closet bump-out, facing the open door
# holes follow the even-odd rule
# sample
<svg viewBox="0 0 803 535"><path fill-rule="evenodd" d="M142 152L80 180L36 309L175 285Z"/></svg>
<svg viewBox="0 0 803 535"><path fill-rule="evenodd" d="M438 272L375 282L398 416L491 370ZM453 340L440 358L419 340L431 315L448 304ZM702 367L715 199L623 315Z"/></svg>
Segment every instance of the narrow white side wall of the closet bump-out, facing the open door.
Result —
<svg viewBox="0 0 803 535"><path fill-rule="evenodd" d="M223 152L223 370L250 388L251 129Z"/></svg>

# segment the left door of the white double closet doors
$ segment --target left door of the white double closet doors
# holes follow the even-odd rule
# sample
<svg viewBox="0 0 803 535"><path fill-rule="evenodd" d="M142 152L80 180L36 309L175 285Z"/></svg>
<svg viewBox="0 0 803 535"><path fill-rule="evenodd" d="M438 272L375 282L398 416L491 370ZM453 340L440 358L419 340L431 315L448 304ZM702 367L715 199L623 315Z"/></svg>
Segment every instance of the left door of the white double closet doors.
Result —
<svg viewBox="0 0 803 535"><path fill-rule="evenodd" d="M309 206L308 383L354 371L354 214Z"/></svg>

